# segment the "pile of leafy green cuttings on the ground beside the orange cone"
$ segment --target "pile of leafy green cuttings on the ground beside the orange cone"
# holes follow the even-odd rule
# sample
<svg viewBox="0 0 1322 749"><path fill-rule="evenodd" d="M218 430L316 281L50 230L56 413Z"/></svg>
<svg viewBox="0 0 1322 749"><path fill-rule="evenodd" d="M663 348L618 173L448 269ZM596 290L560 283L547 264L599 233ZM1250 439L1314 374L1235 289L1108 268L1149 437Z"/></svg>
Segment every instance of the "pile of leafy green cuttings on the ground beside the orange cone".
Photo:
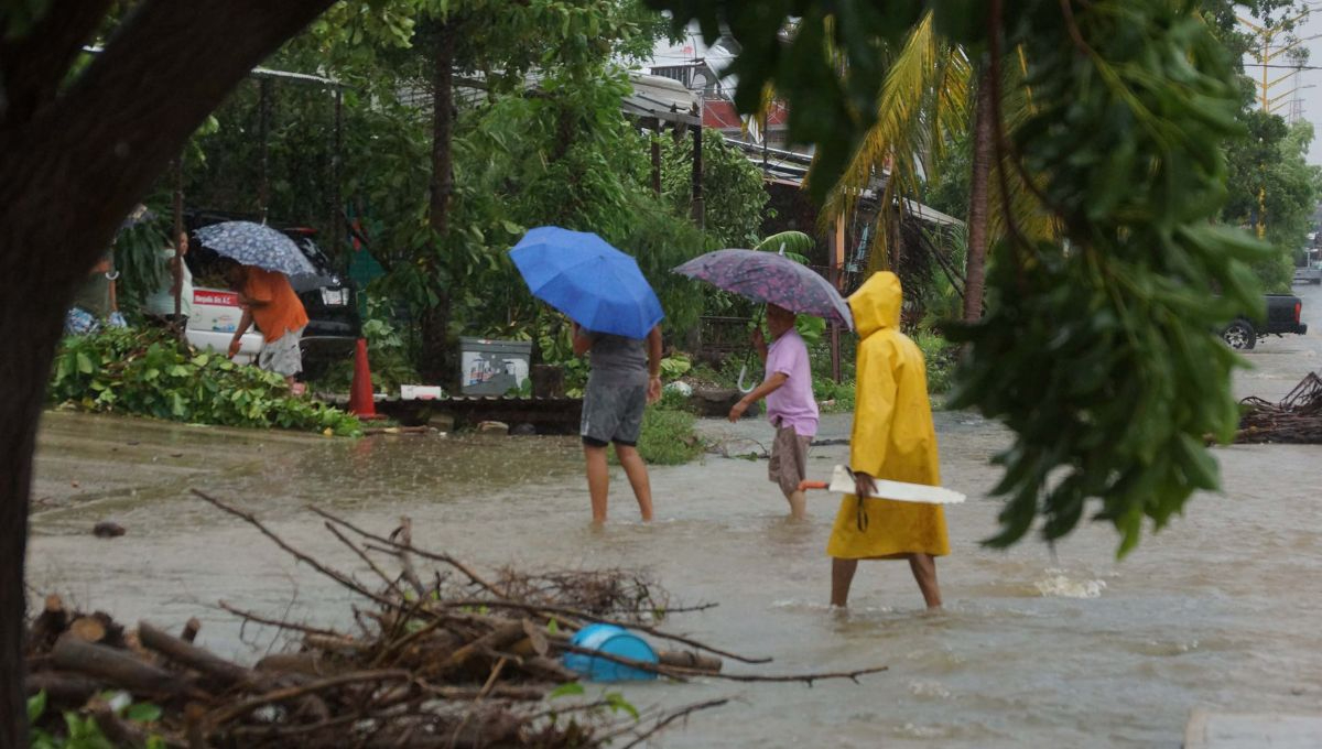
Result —
<svg viewBox="0 0 1322 749"><path fill-rule="evenodd" d="M135 413L226 427L282 427L357 435L358 420L324 403L291 398L284 378L197 354L161 329L106 330L65 338L49 399L85 411Z"/></svg>

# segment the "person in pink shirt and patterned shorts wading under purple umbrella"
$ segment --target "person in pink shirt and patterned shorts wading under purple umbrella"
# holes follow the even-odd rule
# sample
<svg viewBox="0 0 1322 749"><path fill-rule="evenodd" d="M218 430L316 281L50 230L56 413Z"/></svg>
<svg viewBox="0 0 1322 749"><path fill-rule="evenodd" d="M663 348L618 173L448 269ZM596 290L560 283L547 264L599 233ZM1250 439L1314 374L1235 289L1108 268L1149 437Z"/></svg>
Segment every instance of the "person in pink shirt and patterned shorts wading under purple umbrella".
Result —
<svg viewBox="0 0 1322 749"><path fill-rule="evenodd" d="M767 362L767 379L734 404L730 420L738 421L750 406L767 399L767 419L776 428L767 474L789 501L789 515L801 520L808 517L808 503L798 483L808 477L808 445L817 435L818 419L813 374L808 345L795 330L793 312L768 304L767 329L771 330L769 347L761 329L752 333L758 355Z"/></svg>

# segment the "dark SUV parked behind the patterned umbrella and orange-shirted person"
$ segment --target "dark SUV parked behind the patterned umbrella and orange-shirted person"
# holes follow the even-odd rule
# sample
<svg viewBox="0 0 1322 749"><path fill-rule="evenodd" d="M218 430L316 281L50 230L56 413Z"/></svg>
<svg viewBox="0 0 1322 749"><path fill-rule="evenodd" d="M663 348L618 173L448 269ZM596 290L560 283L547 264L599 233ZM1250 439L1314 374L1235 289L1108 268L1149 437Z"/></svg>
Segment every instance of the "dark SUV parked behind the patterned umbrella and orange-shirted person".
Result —
<svg viewBox="0 0 1322 749"><path fill-rule="evenodd" d="M208 285L214 276L215 252L202 247L194 232L222 221L251 221L249 217L212 211L185 214L189 231L188 267L193 272L194 285ZM362 321L358 318L357 292L353 283L336 271L330 259L317 246L315 229L287 226L267 222L271 229L293 240L303 255L317 269L315 276L295 276L290 279L303 309L308 313L308 326L303 330L303 366L308 376L327 365L352 357L354 343L362 334ZM214 285L214 281L212 283Z"/></svg>

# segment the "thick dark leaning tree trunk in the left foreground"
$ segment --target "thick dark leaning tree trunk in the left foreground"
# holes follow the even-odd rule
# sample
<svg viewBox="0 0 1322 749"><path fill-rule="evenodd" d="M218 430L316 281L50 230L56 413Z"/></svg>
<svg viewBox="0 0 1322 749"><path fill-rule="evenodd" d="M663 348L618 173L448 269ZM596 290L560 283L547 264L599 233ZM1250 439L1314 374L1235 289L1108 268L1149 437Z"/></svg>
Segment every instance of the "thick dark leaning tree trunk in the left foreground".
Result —
<svg viewBox="0 0 1322 749"><path fill-rule="evenodd" d="M52 0L28 37L0 40L0 749L28 746L32 453L74 287L206 114L330 3L143 0L63 90L108 1Z"/></svg>

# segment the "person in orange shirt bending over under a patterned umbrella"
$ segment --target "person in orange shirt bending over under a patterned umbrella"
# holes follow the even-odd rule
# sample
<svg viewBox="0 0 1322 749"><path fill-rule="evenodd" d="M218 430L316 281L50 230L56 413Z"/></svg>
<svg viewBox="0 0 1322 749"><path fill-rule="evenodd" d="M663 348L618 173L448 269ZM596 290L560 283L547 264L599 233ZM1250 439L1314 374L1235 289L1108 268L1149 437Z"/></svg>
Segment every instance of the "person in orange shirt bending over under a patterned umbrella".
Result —
<svg viewBox="0 0 1322 749"><path fill-rule="evenodd" d="M230 357L238 354L243 334L256 322L256 329L262 332L262 353L258 354L256 366L284 375L290 390L295 395L301 394L303 384L295 380L295 375L303 371L299 339L308 325L308 313L303 309L299 295L293 293L290 279L279 271L242 266L233 260L226 263L225 277L230 288L238 292L239 306L243 308L243 317L230 341Z"/></svg>

